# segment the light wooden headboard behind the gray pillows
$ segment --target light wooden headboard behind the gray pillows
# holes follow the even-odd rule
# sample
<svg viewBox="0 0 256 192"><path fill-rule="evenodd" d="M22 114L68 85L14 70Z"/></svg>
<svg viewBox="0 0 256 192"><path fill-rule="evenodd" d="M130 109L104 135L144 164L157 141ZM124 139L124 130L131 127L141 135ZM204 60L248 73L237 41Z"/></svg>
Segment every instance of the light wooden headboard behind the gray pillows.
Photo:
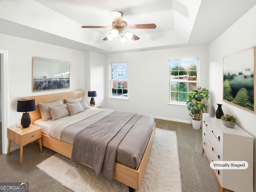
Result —
<svg viewBox="0 0 256 192"><path fill-rule="evenodd" d="M59 99L62 99L62 102L65 103L65 99L75 99L79 97L84 99L83 90L27 97L27 98L34 98L36 103L36 110L29 112L31 123L34 124L34 121L42 118L39 107L38 107L38 103L48 103L48 102L56 101Z"/></svg>

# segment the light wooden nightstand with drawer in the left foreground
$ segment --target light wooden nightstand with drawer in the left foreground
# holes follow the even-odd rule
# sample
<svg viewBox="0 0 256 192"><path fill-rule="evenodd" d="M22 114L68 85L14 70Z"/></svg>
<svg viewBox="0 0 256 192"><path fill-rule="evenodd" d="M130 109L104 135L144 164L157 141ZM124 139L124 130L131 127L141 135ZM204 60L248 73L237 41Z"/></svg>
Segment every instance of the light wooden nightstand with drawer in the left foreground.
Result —
<svg viewBox="0 0 256 192"><path fill-rule="evenodd" d="M17 126L8 127L7 137L8 137L8 151L7 151L8 155L10 154L11 141L15 142L20 146L20 166L22 166L24 145L38 139L40 151L41 153L43 152L42 142L41 142L41 137L42 137L41 128L36 125L30 124L30 126L27 128L17 127Z"/></svg>

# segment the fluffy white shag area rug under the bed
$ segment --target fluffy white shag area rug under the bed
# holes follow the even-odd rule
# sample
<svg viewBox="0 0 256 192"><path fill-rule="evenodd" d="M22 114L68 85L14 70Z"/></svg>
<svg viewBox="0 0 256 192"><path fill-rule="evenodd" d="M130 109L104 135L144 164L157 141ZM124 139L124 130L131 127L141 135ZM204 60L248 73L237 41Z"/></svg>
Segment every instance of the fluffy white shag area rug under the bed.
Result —
<svg viewBox="0 0 256 192"><path fill-rule="evenodd" d="M128 192L128 186L96 177L94 170L58 153L37 167L74 192ZM137 191L136 191L137 192ZM139 192L182 192L176 132L156 128Z"/></svg>

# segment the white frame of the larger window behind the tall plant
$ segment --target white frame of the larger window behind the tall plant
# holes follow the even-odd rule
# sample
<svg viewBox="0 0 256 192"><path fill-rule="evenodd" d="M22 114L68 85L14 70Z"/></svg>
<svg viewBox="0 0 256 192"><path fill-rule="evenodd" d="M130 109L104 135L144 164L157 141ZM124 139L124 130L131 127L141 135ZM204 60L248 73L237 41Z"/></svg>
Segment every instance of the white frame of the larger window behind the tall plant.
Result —
<svg viewBox="0 0 256 192"><path fill-rule="evenodd" d="M196 80L180 80L180 79L177 79L177 80L174 80L174 79L171 79L171 61L189 61L189 60L196 60L197 61L197 65L196 65ZM185 82L185 83L196 83L196 87L199 87L199 65L200 65L200 60L199 58L188 58L188 59L170 59L169 62L169 101L168 101L168 104L174 104L174 105L182 105L182 106L186 106L186 102L182 102L182 101L172 101L171 100L171 83L174 83L174 82ZM180 70L178 70L179 72ZM189 91L187 90L186 93L188 93ZM178 93L180 93L178 91Z"/></svg>

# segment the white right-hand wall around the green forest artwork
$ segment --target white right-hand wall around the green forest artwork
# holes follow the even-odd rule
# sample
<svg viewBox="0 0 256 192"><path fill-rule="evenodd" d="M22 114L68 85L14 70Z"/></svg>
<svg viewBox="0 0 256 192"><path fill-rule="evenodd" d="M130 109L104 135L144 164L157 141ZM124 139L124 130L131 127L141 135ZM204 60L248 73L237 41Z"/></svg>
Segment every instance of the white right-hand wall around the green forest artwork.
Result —
<svg viewBox="0 0 256 192"><path fill-rule="evenodd" d="M226 32L218 37L209 46L209 89L212 92L212 103L215 109L216 103L223 104L222 109L226 114L232 114L238 118L238 126L256 137L256 114L233 106L222 100L223 81L223 57L250 48L256 45L256 6L240 18ZM255 77L254 77L255 78ZM254 81L255 82L255 81ZM255 89L255 85L254 85ZM255 90L254 90L255 92ZM254 99L255 102L255 99ZM256 141L254 139L254 174L256 167ZM254 177L256 186L256 177ZM254 187L256 191L256 187Z"/></svg>

